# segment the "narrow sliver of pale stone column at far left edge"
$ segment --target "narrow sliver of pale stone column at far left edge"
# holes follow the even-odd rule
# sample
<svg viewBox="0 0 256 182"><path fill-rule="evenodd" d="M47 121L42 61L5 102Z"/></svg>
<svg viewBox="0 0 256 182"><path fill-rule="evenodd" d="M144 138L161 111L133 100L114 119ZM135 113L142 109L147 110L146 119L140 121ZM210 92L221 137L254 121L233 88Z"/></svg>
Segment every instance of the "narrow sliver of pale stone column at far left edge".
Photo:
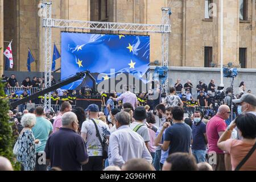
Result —
<svg viewBox="0 0 256 182"><path fill-rule="evenodd" d="M0 74L3 74L3 69L5 65L3 65L3 0L0 0Z"/></svg>

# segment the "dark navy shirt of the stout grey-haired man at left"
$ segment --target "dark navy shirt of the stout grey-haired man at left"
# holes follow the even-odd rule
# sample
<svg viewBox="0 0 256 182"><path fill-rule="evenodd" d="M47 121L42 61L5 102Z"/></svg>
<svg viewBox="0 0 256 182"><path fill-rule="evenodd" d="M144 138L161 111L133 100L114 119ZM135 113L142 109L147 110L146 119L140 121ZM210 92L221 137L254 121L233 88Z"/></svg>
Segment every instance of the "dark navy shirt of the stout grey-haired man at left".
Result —
<svg viewBox="0 0 256 182"><path fill-rule="evenodd" d="M81 171L81 163L88 159L84 139L63 127L50 135L44 151L46 159L51 160L51 167L59 167L63 171Z"/></svg>

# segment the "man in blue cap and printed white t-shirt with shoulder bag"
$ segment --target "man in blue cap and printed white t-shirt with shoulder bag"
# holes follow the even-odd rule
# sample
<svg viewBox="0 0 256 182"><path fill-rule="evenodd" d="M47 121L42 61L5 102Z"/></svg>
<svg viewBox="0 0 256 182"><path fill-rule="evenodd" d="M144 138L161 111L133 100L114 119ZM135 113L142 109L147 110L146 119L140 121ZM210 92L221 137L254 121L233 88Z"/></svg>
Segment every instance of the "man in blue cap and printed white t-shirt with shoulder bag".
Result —
<svg viewBox="0 0 256 182"><path fill-rule="evenodd" d="M85 110L89 114L89 119L82 123L81 137L84 139L89 156L89 162L82 166L84 171L102 171L103 170L103 157L102 157L102 146L100 139L97 135L97 130L94 122L98 127L100 137L104 142L106 139L109 140L110 131L108 125L98 119L98 106L91 104Z"/></svg>

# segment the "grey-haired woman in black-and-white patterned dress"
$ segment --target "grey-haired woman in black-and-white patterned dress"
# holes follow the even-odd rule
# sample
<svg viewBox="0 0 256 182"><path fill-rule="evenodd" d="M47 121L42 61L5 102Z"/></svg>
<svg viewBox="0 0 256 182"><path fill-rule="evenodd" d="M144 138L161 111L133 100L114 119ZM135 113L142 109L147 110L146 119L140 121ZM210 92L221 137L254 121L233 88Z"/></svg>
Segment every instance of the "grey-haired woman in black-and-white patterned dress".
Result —
<svg viewBox="0 0 256 182"><path fill-rule="evenodd" d="M32 133L32 127L35 126L35 114L25 114L21 119L23 130L18 138L18 155L17 160L22 164L24 171L34 171L36 162L36 146L39 140L35 140Z"/></svg>

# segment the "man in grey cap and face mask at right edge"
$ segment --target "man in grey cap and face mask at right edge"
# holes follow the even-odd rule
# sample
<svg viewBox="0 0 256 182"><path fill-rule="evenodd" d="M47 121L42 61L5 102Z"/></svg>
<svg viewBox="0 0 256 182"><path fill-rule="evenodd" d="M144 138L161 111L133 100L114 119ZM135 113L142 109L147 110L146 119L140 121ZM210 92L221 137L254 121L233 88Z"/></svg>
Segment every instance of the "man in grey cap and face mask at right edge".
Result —
<svg viewBox="0 0 256 182"><path fill-rule="evenodd" d="M237 113L251 113L256 115L256 97L253 94L243 94L241 98L233 100L238 105Z"/></svg>

